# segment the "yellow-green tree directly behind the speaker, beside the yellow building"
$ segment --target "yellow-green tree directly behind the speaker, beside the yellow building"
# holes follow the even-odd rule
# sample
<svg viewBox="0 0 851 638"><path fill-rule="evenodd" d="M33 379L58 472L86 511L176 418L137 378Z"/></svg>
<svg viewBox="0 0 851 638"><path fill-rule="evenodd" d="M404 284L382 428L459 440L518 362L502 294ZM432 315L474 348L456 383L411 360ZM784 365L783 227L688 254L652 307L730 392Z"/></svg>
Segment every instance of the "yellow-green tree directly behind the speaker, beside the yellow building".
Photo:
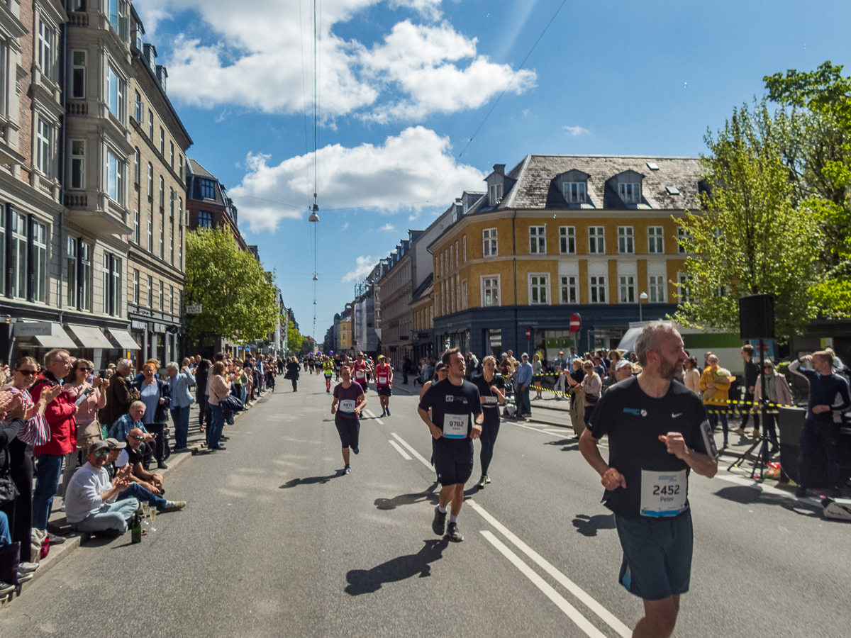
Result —
<svg viewBox="0 0 851 638"><path fill-rule="evenodd" d="M705 135L702 210L680 220L690 282L678 322L732 330L738 299L756 293L774 295L778 339L802 333L816 316L809 288L819 233L797 206L783 156L793 128L788 114L770 113L763 100L753 111L735 109L716 135Z"/></svg>

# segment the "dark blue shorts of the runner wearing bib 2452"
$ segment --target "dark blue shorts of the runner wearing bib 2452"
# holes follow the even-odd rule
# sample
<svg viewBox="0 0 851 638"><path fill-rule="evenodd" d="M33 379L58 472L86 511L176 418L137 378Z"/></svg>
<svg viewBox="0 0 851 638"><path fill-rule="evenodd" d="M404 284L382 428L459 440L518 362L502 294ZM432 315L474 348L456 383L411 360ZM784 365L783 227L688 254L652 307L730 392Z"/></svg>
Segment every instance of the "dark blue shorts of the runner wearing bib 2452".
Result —
<svg viewBox="0 0 851 638"><path fill-rule="evenodd" d="M624 561L618 581L645 601L684 594L691 581L691 510L670 518L614 515Z"/></svg>

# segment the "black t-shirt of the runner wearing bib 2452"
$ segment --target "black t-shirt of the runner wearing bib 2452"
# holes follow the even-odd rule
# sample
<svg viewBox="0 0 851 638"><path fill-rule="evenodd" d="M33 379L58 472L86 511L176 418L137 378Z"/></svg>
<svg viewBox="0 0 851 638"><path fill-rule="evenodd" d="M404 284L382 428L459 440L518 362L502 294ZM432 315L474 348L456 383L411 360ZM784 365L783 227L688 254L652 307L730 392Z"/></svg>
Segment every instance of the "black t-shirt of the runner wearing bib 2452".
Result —
<svg viewBox="0 0 851 638"><path fill-rule="evenodd" d="M608 464L624 476L626 487L607 490L603 494L606 507L620 516L641 516L643 470L685 470L688 497L688 464L668 453L659 437L679 432L689 448L705 454L705 421L706 410L700 397L677 381L671 382L668 393L660 399L646 395L637 377L609 388L591 415L591 436L600 439L608 434ZM688 498L684 506L687 510Z"/></svg>

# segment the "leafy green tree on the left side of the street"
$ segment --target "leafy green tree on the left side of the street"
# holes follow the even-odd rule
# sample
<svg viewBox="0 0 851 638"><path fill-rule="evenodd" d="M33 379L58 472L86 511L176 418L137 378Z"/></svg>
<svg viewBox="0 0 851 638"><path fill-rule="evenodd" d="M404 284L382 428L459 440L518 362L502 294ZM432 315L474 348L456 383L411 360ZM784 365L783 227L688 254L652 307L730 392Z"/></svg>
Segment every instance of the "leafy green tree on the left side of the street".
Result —
<svg viewBox="0 0 851 638"><path fill-rule="evenodd" d="M281 308L274 276L221 228L186 234L186 304L201 304L186 316L188 338L198 345L224 336L239 344L265 339Z"/></svg>

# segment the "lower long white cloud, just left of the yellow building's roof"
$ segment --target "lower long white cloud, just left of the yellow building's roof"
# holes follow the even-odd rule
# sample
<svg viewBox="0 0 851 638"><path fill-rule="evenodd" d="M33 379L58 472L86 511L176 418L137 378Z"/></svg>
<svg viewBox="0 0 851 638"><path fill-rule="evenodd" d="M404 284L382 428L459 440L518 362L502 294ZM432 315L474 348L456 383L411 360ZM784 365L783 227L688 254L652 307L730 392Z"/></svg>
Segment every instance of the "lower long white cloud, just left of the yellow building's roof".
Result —
<svg viewBox="0 0 851 638"><path fill-rule="evenodd" d="M320 219L334 219L329 208L379 208L391 214L445 208L462 191L481 190L485 174L457 163L450 149L448 137L421 126L388 136L381 145L325 146L317 152ZM281 219L302 219L313 201L312 154L277 166L270 160L249 155L242 184L229 191L253 232L275 231Z"/></svg>

